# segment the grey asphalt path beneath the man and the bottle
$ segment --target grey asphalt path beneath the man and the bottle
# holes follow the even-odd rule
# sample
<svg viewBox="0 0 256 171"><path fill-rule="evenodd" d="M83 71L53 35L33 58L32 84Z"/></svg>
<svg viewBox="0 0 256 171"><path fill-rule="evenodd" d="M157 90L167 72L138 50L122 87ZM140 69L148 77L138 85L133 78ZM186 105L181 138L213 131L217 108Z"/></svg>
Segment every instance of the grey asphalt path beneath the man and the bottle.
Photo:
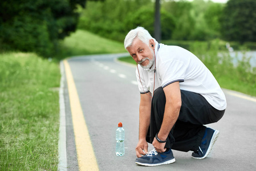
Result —
<svg viewBox="0 0 256 171"><path fill-rule="evenodd" d="M128 54L78 56L68 59L99 170L256 170L256 98L224 89L227 109L218 123L206 125L220 131L210 157L196 160L192 152L173 150L176 162L161 166L135 164L139 130L140 93L135 66L115 59ZM62 141L67 168L79 170L67 80L63 72L66 128ZM115 154L117 124L125 129L125 154ZM90 140L88 140L90 141ZM85 147L86 148L86 147ZM149 145L149 150L153 148ZM62 169L60 169L62 170Z"/></svg>

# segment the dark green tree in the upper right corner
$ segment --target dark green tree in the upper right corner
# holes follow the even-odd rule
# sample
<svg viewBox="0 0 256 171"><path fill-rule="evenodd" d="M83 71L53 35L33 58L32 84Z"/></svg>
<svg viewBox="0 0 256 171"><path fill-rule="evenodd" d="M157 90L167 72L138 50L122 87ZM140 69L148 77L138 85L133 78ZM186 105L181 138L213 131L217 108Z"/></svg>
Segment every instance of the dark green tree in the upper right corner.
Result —
<svg viewBox="0 0 256 171"><path fill-rule="evenodd" d="M229 0L221 17L221 33L226 40L256 42L256 1Z"/></svg>

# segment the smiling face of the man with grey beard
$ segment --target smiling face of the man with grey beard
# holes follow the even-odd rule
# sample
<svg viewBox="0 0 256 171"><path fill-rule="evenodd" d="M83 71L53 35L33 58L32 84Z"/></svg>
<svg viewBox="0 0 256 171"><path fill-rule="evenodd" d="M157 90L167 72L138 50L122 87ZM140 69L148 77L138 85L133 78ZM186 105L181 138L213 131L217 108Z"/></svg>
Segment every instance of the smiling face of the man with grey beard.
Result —
<svg viewBox="0 0 256 171"><path fill-rule="evenodd" d="M152 44L154 42L152 41ZM150 44L150 42L149 42ZM127 47L127 51L136 63L143 68L151 68L155 62L155 54L153 47L145 44L139 39L133 40L132 46ZM155 45L155 43L153 44Z"/></svg>

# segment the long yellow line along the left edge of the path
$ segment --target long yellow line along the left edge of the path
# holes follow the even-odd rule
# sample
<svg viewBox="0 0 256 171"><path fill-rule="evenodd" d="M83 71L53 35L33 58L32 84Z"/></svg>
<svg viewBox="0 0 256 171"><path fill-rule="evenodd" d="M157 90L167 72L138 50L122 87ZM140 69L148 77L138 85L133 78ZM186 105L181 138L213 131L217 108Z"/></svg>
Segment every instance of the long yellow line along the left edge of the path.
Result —
<svg viewBox="0 0 256 171"><path fill-rule="evenodd" d="M70 65L67 60L64 60L63 63L65 66L68 93L70 96L70 107L75 134L76 153L78 154L79 170L99 170Z"/></svg>

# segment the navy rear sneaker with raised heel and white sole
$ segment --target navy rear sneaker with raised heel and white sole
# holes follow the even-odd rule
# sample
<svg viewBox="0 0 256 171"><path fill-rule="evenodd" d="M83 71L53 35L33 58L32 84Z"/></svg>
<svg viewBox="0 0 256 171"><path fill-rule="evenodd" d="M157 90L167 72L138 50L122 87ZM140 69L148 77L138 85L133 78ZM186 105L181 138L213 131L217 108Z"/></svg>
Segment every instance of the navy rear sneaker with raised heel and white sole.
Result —
<svg viewBox="0 0 256 171"><path fill-rule="evenodd" d="M220 131L211 128L206 128L205 135L202 138L199 150L192 153L193 158L204 159L211 152L213 144L218 139Z"/></svg>

